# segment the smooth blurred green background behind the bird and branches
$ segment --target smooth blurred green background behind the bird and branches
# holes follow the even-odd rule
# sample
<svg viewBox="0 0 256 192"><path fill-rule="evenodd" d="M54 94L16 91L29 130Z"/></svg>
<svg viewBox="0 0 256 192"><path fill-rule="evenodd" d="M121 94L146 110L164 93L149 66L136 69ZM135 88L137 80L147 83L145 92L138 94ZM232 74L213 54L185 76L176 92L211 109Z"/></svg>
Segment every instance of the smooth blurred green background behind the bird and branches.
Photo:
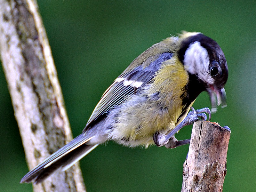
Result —
<svg viewBox="0 0 256 192"><path fill-rule="evenodd" d="M181 30L216 40L229 67L228 107L212 116L212 121L231 129L223 191L256 191L255 1L38 0L38 4L74 137L101 94L152 44ZM2 68L0 85L0 191L32 191L31 184L19 184L28 168ZM207 93L194 107L210 107ZM191 127L186 127L177 138L190 135ZM109 142L81 160L86 188L180 191L187 152L188 145L141 149Z"/></svg>

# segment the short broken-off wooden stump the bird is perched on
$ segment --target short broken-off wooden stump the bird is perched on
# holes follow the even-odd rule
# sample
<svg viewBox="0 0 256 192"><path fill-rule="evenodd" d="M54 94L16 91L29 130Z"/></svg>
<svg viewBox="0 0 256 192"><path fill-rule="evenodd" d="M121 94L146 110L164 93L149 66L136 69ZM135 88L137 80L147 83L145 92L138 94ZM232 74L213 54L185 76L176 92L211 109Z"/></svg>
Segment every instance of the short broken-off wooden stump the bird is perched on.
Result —
<svg viewBox="0 0 256 192"><path fill-rule="evenodd" d="M222 191L229 138L229 128L201 120L194 123L181 192Z"/></svg>

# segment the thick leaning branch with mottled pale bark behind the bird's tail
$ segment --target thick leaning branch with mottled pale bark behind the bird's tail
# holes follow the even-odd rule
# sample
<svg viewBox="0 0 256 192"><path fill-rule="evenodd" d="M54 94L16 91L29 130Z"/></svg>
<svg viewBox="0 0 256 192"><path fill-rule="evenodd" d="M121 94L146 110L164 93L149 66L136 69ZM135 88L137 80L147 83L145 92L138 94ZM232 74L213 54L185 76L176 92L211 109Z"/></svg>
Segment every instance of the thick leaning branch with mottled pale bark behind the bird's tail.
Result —
<svg viewBox="0 0 256 192"><path fill-rule="evenodd" d="M0 0L0 51L29 169L72 139L46 32L35 0ZM25 173L24 173L25 174ZM85 191L78 164L34 191Z"/></svg>

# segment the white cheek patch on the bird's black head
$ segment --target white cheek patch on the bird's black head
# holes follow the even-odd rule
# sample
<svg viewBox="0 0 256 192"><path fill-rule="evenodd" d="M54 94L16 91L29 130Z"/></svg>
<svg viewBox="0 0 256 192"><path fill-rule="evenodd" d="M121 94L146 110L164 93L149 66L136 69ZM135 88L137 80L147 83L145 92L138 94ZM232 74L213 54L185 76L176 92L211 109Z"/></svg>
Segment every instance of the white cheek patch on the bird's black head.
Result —
<svg viewBox="0 0 256 192"><path fill-rule="evenodd" d="M207 84L213 84L214 79L209 75L210 59L207 50L196 41L189 45L184 55L184 68Z"/></svg>

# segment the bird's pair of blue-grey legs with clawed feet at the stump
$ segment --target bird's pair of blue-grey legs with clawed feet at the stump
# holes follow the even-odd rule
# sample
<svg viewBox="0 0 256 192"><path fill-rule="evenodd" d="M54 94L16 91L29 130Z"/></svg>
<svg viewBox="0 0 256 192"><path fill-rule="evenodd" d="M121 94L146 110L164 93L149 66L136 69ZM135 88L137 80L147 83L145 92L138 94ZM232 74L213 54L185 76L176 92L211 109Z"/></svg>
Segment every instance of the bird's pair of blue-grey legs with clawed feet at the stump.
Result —
<svg viewBox="0 0 256 192"><path fill-rule="evenodd" d="M180 122L171 132L169 132L167 135L156 132L153 135L153 140L155 144L160 147L166 145L167 148L175 148L180 145L185 145L190 142L190 139L188 140L180 140L178 141L173 135L178 132L180 129L182 129L186 125L190 125L195 123L198 120L198 117L200 117L202 120L206 121L207 116L205 113L209 114L209 120L211 119L211 111L209 108L203 108L195 110L193 107L191 107L192 111L188 113L188 115L183 119L183 121ZM168 142L171 142L168 144Z"/></svg>

